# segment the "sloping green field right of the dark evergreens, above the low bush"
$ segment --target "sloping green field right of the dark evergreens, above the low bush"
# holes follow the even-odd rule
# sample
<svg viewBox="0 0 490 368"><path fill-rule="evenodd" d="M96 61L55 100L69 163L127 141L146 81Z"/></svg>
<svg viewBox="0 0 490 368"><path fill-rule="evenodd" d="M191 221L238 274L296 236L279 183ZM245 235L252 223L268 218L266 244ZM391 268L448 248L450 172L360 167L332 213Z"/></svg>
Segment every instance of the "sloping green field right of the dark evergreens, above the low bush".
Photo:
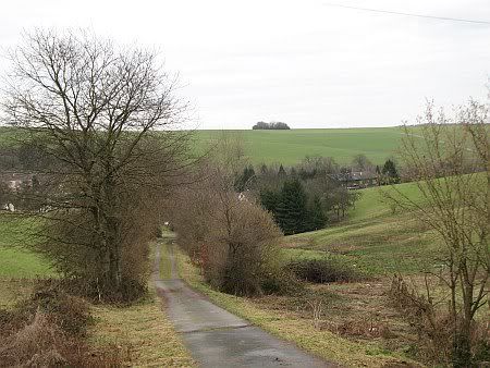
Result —
<svg viewBox="0 0 490 368"><path fill-rule="evenodd" d="M399 189L414 200L421 200L414 183ZM412 213L392 208L382 191L359 191L362 197L348 221L316 232L286 237L294 248L291 257L319 257L328 252L348 260L370 274L413 273L431 267L438 254L438 241ZM303 252L306 249L307 252Z"/></svg>

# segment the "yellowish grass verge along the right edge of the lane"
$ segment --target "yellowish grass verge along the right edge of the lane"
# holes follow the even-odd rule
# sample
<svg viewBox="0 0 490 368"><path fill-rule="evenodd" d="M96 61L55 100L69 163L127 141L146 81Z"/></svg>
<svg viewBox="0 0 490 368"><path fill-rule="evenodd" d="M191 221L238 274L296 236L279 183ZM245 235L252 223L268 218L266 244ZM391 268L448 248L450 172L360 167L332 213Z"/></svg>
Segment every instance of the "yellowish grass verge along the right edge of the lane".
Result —
<svg viewBox="0 0 490 368"><path fill-rule="evenodd" d="M388 351L376 339L363 342L347 340L329 330L318 329L313 317L305 318L304 312L281 308L277 304L266 306L268 303L260 303L260 298L217 292L204 282L184 253L176 252L175 255L181 278L194 289L208 295L217 305L311 354L350 367L387 367L392 364L417 366L408 358Z"/></svg>

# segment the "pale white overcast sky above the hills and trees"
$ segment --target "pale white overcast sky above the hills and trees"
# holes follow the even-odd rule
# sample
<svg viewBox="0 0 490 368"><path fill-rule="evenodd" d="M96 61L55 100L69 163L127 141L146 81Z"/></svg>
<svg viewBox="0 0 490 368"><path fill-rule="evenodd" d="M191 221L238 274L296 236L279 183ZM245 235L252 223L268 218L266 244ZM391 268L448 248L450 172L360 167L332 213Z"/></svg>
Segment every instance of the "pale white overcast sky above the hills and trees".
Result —
<svg viewBox="0 0 490 368"><path fill-rule="evenodd" d="M387 126L426 98L487 100L490 25L328 3L490 22L489 0L15 0L1 4L0 45L45 26L156 47L200 128Z"/></svg>

